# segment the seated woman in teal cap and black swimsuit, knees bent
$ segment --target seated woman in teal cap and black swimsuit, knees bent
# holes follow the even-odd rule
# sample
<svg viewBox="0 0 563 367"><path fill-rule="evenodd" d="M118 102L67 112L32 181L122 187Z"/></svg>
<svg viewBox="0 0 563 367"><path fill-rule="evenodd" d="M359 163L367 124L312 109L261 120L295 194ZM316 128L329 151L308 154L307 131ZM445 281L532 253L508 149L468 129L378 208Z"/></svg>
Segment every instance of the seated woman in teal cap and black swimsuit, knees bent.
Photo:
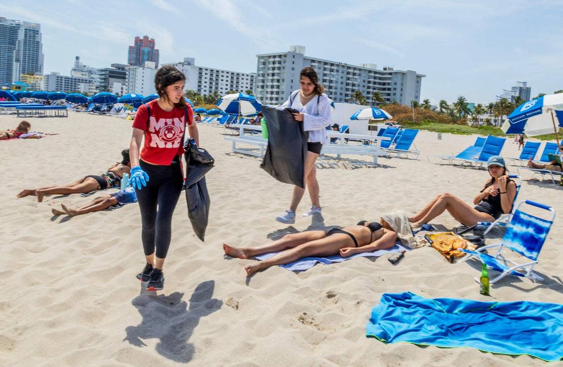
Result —
<svg viewBox="0 0 563 367"><path fill-rule="evenodd" d="M504 159L500 155L491 156L487 162L491 178L473 198L475 207L452 194L440 194L422 211L409 217L412 227L421 227L444 211L448 211L459 223L474 226L477 222L493 222L512 211L512 202L516 195L516 183L506 176Z"/></svg>

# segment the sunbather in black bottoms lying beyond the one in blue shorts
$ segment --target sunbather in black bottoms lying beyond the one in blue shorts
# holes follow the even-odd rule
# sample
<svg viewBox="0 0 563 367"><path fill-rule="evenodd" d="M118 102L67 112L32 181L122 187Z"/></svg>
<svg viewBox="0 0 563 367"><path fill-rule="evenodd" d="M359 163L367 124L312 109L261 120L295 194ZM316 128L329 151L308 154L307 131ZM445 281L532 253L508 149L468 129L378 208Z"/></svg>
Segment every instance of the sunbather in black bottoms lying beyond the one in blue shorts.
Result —
<svg viewBox="0 0 563 367"><path fill-rule="evenodd" d="M129 174L131 172L131 163L129 163L129 149L125 149L121 152L123 156L122 162L115 163L108 171L102 173L101 176L96 176L91 174L80 178L68 185L62 186L46 186L39 189L25 189L21 193L17 194L17 198L24 198L28 195L37 196L37 202L41 203L43 201L43 196L45 195L68 195L68 194L80 194L80 193L90 193L90 191L95 190L105 190L105 189L117 189L121 185L121 179L123 173Z"/></svg>

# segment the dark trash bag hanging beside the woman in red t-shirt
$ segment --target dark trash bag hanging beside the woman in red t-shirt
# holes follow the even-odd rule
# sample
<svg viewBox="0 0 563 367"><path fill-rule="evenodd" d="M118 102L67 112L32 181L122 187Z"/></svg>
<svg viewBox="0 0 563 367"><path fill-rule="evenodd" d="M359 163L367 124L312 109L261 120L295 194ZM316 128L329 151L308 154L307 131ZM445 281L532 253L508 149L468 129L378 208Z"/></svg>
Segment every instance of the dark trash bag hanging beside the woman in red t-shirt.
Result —
<svg viewBox="0 0 563 367"><path fill-rule="evenodd" d="M209 217L209 194L205 185L205 173L213 168L215 159L203 148L198 148L193 139L184 144L186 158L187 216L195 235L203 241Z"/></svg>

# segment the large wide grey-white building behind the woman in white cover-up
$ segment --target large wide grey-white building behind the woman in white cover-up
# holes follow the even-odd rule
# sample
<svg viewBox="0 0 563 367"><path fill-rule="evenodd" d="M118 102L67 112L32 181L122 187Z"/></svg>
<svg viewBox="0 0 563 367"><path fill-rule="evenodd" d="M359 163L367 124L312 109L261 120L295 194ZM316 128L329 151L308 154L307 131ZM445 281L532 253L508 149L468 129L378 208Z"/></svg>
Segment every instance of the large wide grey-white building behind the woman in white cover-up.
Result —
<svg viewBox="0 0 563 367"><path fill-rule="evenodd" d="M287 52L265 53L258 58L256 97L265 104L280 104L289 93L299 88L301 69L312 66L319 75L326 93L334 102L354 99L360 91L368 102L373 92L381 92L386 102L410 105L420 101L422 78L426 75L413 70L377 69L374 64L348 65L305 56L305 47L291 46Z"/></svg>

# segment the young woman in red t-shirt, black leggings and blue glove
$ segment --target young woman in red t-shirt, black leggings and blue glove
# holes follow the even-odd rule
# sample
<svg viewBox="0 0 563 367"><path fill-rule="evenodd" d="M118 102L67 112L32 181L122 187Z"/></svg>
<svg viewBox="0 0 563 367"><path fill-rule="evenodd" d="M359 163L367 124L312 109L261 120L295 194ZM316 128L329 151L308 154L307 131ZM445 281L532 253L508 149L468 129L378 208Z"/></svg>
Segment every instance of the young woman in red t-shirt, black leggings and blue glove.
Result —
<svg viewBox="0 0 563 367"><path fill-rule="evenodd" d="M180 160L184 132L199 145L193 111L184 99L186 77L173 66L163 66L154 77L159 98L142 105L133 120L129 146L131 178L141 209L145 268L137 279L148 281L147 290L164 288L162 267L172 232L172 213L180 198L184 176ZM139 154L142 137L145 142Z"/></svg>

